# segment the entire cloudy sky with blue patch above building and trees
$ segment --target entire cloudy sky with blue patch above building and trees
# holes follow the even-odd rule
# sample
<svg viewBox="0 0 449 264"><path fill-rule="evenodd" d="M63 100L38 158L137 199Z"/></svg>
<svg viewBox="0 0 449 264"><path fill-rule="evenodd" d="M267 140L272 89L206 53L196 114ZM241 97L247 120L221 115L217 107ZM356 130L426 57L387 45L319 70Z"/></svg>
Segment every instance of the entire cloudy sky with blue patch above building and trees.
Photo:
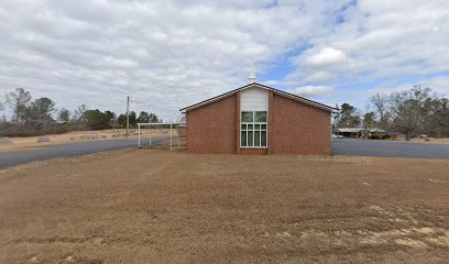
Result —
<svg viewBox="0 0 449 264"><path fill-rule="evenodd" d="M259 82L363 109L421 84L449 95L447 0L2 0L0 97L156 112Z"/></svg>

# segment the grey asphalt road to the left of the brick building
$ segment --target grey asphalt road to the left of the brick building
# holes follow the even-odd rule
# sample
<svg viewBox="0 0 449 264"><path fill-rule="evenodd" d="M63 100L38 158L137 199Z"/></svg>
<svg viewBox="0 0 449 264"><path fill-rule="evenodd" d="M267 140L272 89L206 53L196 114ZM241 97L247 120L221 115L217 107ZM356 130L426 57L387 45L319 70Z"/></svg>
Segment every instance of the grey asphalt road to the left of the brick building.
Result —
<svg viewBox="0 0 449 264"><path fill-rule="evenodd" d="M157 144L166 140L169 140L169 136L153 138L152 143ZM142 141L147 142L147 139L144 139ZM21 163L42 161L46 158L78 156L136 145L138 140L89 141L83 143L43 145L42 150L0 153L0 168L14 166Z"/></svg>

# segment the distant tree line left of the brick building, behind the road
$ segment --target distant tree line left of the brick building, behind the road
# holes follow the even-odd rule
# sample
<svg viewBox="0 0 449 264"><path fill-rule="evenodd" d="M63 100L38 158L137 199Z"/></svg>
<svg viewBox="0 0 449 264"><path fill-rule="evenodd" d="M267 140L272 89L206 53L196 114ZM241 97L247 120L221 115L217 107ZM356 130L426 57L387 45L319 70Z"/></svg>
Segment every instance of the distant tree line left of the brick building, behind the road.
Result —
<svg viewBox="0 0 449 264"><path fill-rule="evenodd" d="M9 108L12 116L6 117ZM47 98L32 98L31 92L23 88L17 88L0 100L0 136L28 136L48 133L63 133L74 130L102 130L123 129L127 127L127 114L116 114L112 111L88 109L85 105L74 111L66 108L56 109L55 102ZM162 119L157 114L141 111L139 116L134 111L129 112L130 128L136 128L138 123L158 123Z"/></svg>

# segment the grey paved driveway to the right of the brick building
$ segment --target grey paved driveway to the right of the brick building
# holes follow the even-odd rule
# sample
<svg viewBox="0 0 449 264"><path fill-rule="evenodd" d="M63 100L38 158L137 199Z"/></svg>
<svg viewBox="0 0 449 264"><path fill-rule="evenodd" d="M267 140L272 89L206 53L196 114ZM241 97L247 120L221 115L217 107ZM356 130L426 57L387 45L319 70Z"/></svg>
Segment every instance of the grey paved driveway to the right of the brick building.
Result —
<svg viewBox="0 0 449 264"><path fill-rule="evenodd" d="M335 155L449 160L449 144L332 139Z"/></svg>

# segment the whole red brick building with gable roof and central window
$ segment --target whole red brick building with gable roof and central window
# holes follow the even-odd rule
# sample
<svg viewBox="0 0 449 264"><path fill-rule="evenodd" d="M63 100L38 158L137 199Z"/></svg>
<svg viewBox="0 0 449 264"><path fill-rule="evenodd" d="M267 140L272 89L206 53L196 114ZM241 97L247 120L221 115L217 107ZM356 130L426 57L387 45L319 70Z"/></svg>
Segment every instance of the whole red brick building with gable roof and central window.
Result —
<svg viewBox="0 0 449 264"><path fill-rule="evenodd" d="M188 153L324 155L333 110L258 82L180 109Z"/></svg>

